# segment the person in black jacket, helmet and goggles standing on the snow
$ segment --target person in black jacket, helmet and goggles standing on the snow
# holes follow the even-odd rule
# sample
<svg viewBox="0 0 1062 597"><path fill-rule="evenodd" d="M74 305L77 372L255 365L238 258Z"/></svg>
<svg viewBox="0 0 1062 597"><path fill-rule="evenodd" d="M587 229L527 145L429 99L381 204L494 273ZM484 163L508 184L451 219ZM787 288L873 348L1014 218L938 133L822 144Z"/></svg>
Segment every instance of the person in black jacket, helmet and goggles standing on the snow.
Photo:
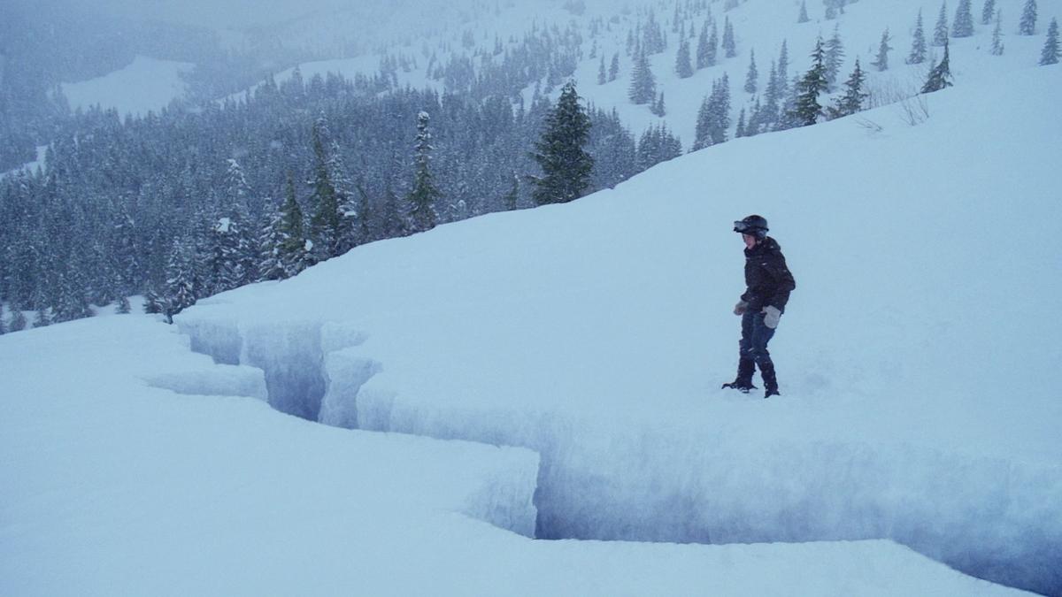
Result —
<svg viewBox="0 0 1062 597"><path fill-rule="evenodd" d="M774 337L782 313L786 311L789 293L796 282L786 266L782 248L767 236L767 220L749 216L734 222L734 232L744 240L744 284L741 300L734 307L734 314L741 315L741 341L738 355L737 378L723 388L749 393L756 389L752 375L759 368L764 378L765 398L782 395L774 372L774 362L767 351L767 343Z"/></svg>

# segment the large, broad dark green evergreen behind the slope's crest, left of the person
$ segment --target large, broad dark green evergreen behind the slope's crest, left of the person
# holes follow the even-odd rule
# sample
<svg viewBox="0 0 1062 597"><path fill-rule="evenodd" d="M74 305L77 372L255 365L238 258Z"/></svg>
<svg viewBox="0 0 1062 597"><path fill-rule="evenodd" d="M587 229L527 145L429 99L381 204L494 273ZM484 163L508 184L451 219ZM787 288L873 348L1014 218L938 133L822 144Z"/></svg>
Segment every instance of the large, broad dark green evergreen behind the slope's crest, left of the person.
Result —
<svg viewBox="0 0 1062 597"><path fill-rule="evenodd" d="M590 119L579 104L576 86L569 82L546 117L546 130L532 154L543 170L543 176L531 178L535 203L566 203L582 197L594 169L594 158L583 151L589 132Z"/></svg>

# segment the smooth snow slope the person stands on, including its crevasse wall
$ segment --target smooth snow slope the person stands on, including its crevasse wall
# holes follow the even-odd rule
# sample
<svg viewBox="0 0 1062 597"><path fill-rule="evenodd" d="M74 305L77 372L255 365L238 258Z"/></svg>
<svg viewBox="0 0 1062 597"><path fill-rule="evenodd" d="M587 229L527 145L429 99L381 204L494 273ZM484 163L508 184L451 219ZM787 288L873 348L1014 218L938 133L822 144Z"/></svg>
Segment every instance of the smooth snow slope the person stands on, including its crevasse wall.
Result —
<svg viewBox="0 0 1062 597"><path fill-rule="evenodd" d="M178 321L208 354L286 363L305 357L262 329L311 305L292 324L319 344L303 374L326 380L310 417L539 453L537 536L888 538L1059 593L1062 330L1023 311L1057 302L1030 280L1062 279L1046 175L1060 88L1062 70L1031 68L929 96L917 126L888 106L862 115L875 130L735 141L573 204L361 246ZM718 390L743 288L730 222L749 212L798 282L771 344L777 400ZM333 322L358 341L321 351L312 329ZM234 325L239 342L196 331Z"/></svg>

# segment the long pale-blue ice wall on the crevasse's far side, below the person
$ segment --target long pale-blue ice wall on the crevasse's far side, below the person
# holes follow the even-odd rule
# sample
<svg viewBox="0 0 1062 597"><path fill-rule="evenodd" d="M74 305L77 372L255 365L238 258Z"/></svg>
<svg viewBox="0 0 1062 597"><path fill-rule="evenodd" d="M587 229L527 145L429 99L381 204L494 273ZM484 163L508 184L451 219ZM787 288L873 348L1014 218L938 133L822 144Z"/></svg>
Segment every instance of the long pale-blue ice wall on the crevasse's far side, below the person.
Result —
<svg viewBox="0 0 1062 597"><path fill-rule="evenodd" d="M342 325L243 330L187 318L181 325L195 349L218 361L238 354L263 369L270 404L285 412L534 450L534 506L521 505L519 483L498 479L468 508L524 534L717 544L890 539L973 576L1062 593L1060 466L907 443L780 439L723 421L417 399L392 390L364 336ZM535 507L535 523L526 523Z"/></svg>

